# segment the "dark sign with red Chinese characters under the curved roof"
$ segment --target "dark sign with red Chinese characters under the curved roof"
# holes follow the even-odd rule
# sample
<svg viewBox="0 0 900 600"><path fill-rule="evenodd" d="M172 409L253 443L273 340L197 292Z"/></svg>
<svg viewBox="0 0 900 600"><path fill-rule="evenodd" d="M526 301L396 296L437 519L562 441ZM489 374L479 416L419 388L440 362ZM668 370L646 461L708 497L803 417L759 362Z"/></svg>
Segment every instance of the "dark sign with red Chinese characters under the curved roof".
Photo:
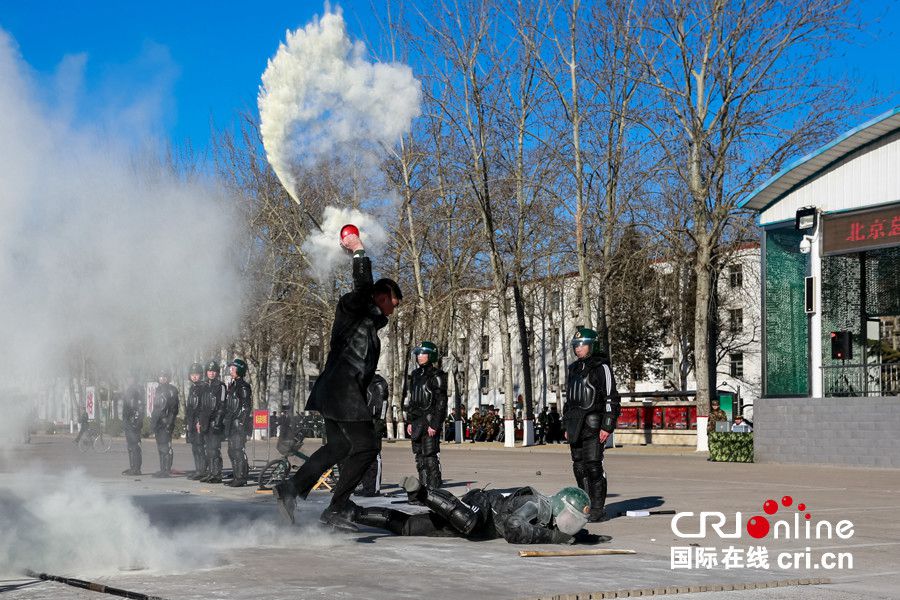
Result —
<svg viewBox="0 0 900 600"><path fill-rule="evenodd" d="M900 202L883 208L822 217L826 255L900 246Z"/></svg>

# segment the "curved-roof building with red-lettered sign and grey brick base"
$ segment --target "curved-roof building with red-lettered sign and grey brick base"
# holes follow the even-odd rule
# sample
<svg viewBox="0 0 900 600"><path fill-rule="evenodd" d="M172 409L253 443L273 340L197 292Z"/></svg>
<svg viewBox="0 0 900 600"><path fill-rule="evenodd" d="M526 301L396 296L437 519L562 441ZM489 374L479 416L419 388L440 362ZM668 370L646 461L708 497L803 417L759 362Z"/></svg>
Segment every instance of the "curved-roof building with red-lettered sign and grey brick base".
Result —
<svg viewBox="0 0 900 600"><path fill-rule="evenodd" d="M900 109L742 206L762 227L756 460L900 467Z"/></svg>

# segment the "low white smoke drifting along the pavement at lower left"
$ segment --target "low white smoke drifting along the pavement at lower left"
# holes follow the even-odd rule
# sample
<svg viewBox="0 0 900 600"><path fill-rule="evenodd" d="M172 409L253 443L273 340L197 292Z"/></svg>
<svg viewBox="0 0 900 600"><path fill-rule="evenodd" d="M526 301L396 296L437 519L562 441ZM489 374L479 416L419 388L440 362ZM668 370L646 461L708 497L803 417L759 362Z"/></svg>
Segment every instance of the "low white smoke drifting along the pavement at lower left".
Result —
<svg viewBox="0 0 900 600"><path fill-rule="evenodd" d="M79 471L18 478L0 486L0 576L25 569L76 577L186 573L221 566L232 549L342 543L314 524L318 505L300 507L298 518L309 525L284 527L269 504L265 512L248 506L234 514L191 500L168 505L169 515L167 505L156 506L161 516L151 518L139 498L111 493Z"/></svg>

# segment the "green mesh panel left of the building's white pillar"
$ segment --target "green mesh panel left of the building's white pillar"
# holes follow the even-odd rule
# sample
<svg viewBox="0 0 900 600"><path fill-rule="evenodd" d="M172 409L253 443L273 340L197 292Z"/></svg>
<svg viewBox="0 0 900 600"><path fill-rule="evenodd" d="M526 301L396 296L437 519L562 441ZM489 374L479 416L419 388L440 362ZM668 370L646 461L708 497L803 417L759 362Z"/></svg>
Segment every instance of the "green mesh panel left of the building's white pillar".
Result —
<svg viewBox="0 0 900 600"><path fill-rule="evenodd" d="M794 230L766 232L767 396L805 396L809 390L808 323L803 307L807 257L803 235Z"/></svg>

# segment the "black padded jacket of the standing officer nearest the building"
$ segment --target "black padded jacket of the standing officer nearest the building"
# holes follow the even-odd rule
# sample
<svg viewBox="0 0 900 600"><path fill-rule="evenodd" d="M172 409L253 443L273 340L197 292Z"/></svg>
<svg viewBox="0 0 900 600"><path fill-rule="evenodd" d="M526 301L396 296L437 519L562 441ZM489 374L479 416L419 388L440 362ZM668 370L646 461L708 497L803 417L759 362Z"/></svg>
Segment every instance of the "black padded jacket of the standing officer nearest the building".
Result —
<svg viewBox="0 0 900 600"><path fill-rule="evenodd" d="M616 380L603 356L588 356L569 365L563 408L569 443L579 438L584 423L591 429L612 433L620 410Z"/></svg>

